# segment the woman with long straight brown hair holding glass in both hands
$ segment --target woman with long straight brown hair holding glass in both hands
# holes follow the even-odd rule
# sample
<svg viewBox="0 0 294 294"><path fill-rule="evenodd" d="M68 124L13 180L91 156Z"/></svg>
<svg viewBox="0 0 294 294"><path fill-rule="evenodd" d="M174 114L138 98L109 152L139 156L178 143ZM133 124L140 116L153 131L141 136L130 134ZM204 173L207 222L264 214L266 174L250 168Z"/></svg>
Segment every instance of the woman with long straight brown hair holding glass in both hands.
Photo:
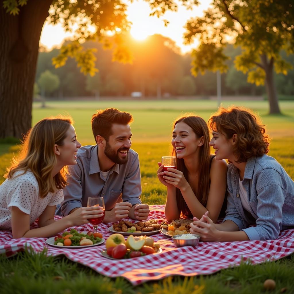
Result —
<svg viewBox="0 0 294 294"><path fill-rule="evenodd" d="M166 219L201 218L208 211L216 222L225 199L227 163L210 155L209 131L199 116L183 116L173 124L175 168L163 171L158 163L157 176L167 187Z"/></svg>

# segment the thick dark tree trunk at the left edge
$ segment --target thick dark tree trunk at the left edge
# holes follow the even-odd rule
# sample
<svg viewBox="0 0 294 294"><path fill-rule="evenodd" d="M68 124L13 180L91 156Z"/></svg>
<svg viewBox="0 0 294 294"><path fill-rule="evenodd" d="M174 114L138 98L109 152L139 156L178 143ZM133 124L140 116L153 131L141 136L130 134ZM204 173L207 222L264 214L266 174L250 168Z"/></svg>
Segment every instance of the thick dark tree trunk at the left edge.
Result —
<svg viewBox="0 0 294 294"><path fill-rule="evenodd" d="M0 1L0 138L22 138L31 128L39 40L52 0L29 0L19 14Z"/></svg>

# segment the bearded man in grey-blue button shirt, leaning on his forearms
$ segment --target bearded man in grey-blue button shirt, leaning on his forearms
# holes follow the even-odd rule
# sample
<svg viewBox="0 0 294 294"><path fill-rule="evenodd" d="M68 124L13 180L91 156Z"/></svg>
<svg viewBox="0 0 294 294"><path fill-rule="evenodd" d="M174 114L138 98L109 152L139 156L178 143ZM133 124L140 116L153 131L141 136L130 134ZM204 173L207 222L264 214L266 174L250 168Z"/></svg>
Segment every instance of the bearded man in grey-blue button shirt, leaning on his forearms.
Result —
<svg viewBox="0 0 294 294"><path fill-rule="evenodd" d="M77 164L69 166L69 185L56 214L67 216L82 206L88 197L102 196L105 202L104 222L121 218L146 220L150 212L142 204L141 175L138 154L131 148L133 116L115 108L99 110L92 116L96 145L78 149Z"/></svg>

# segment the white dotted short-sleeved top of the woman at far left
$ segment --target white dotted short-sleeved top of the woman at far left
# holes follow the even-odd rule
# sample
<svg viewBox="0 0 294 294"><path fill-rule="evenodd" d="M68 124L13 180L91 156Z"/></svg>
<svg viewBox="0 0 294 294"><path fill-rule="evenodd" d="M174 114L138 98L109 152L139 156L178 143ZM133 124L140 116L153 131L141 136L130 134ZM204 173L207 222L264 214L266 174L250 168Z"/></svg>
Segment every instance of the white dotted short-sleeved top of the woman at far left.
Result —
<svg viewBox="0 0 294 294"><path fill-rule="evenodd" d="M39 197L39 185L31 171L17 171L0 186L0 229L11 229L11 207L16 206L30 215L30 225L43 213L46 206L54 206L64 199L63 190ZM20 176L17 176L20 175Z"/></svg>

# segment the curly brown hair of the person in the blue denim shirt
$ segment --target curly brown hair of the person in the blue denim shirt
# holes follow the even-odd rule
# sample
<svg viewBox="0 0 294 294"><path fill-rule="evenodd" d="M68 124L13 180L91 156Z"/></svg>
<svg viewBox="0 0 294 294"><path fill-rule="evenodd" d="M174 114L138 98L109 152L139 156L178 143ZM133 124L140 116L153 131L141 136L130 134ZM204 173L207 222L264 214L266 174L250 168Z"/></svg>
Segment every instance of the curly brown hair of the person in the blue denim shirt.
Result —
<svg viewBox="0 0 294 294"><path fill-rule="evenodd" d="M217 113L208 120L212 131L218 131L230 139L237 134L233 153L237 163L245 162L252 156L262 156L268 153L269 138L265 135L265 125L250 112L241 107L219 108Z"/></svg>

